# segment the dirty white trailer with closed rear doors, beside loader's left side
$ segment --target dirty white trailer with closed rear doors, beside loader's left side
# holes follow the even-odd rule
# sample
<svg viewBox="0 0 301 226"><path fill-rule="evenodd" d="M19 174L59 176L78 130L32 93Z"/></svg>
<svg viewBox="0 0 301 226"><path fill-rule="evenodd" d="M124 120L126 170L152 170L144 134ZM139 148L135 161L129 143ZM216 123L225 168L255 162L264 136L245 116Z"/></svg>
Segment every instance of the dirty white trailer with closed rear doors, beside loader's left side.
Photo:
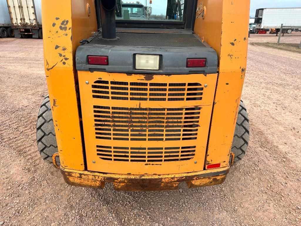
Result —
<svg viewBox="0 0 301 226"><path fill-rule="evenodd" d="M7 0L15 37L43 38L41 0Z"/></svg>

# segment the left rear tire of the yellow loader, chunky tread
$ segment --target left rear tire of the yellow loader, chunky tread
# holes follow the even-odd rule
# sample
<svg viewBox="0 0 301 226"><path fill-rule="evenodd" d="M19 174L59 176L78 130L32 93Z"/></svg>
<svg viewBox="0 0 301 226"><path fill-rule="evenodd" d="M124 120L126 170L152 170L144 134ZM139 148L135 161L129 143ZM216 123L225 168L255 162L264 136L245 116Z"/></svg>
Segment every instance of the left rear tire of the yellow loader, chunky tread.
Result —
<svg viewBox="0 0 301 226"><path fill-rule="evenodd" d="M42 102L37 120L37 144L42 159L52 163L52 155L58 152L49 96ZM59 157L56 162L60 165Z"/></svg>

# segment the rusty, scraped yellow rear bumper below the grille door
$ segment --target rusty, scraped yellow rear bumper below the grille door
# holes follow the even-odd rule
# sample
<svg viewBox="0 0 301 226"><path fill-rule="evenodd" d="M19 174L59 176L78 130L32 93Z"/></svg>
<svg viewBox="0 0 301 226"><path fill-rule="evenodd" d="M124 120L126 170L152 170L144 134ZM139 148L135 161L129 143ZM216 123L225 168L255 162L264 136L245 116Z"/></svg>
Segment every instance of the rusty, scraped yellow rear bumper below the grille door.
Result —
<svg viewBox="0 0 301 226"><path fill-rule="evenodd" d="M180 182L189 188L222 184L230 166L199 172L163 175L106 174L92 171L76 171L60 168L67 184L79 187L102 189L105 183L113 183L121 191L163 191L177 190Z"/></svg>

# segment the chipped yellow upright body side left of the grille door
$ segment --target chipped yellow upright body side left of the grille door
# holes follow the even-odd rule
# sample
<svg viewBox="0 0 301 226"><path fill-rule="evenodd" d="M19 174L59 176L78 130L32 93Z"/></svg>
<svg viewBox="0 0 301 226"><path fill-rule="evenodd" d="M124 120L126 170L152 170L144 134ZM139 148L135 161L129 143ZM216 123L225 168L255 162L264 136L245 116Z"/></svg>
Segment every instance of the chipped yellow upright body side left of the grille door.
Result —
<svg viewBox="0 0 301 226"><path fill-rule="evenodd" d="M93 0L42 0L45 74L61 165L69 169L84 169L73 62L79 40L97 30L95 18Z"/></svg>

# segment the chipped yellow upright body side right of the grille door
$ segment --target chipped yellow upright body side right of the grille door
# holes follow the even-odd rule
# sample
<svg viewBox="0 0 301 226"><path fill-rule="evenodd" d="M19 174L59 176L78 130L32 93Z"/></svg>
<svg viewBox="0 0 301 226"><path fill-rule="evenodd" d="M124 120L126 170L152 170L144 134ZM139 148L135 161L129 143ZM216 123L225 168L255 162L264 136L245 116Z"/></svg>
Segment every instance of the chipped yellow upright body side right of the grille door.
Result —
<svg viewBox="0 0 301 226"><path fill-rule="evenodd" d="M247 64L250 1L207 0L205 18L196 18L199 36L218 53L219 77L209 134L206 165L228 165ZM221 37L219 43L218 38Z"/></svg>

